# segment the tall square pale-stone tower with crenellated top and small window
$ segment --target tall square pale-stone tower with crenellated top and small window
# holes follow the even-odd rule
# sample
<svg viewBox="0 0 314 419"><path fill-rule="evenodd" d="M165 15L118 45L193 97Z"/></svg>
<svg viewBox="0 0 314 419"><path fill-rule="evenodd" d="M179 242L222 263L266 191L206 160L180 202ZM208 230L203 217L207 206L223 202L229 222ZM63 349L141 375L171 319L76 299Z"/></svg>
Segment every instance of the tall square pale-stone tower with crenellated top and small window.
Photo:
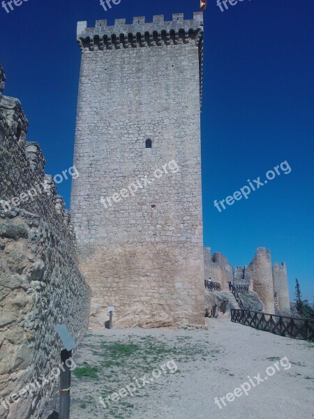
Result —
<svg viewBox="0 0 314 419"><path fill-rule="evenodd" d="M204 323L202 13L77 24L71 212L91 323Z"/></svg>

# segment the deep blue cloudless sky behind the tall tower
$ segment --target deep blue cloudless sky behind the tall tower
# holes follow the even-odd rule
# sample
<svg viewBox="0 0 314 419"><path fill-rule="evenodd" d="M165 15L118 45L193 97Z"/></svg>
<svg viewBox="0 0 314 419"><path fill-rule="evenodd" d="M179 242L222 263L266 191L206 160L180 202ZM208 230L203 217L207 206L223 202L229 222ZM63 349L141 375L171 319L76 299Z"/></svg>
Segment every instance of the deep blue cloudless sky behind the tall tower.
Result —
<svg viewBox="0 0 314 419"><path fill-rule="evenodd" d="M73 161L80 49L76 23L185 13L198 0L121 0L105 12L98 0L28 0L0 8L0 60L8 96L20 98L29 118L28 140L37 141L55 175ZM233 265L248 264L257 247L287 262L313 301L313 39L314 3L243 0L221 12L209 0L204 13L202 179L204 245ZM281 174L218 212L222 200L281 162ZM59 186L67 206L70 182Z"/></svg>

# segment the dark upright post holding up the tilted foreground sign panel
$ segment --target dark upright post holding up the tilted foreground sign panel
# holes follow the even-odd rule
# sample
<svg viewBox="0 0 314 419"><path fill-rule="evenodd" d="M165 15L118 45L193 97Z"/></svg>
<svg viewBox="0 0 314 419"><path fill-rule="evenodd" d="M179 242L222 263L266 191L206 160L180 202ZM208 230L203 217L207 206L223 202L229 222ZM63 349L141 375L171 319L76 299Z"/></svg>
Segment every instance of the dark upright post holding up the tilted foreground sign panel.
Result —
<svg viewBox="0 0 314 419"><path fill-rule="evenodd" d="M60 373L60 409L59 419L70 419L70 386L71 386L71 371L66 366L66 361L72 356L72 351L63 349L61 351L61 368ZM64 371L63 371L64 369Z"/></svg>

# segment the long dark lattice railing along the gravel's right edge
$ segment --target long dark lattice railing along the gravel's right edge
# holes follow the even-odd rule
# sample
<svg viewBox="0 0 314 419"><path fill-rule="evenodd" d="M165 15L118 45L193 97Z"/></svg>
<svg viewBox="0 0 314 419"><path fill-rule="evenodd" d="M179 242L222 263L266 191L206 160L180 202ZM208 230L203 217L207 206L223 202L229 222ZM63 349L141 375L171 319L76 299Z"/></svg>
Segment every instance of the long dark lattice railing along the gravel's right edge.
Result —
<svg viewBox="0 0 314 419"><path fill-rule="evenodd" d="M231 321L257 330L295 339L314 340L314 319L277 316L246 309L231 309Z"/></svg>

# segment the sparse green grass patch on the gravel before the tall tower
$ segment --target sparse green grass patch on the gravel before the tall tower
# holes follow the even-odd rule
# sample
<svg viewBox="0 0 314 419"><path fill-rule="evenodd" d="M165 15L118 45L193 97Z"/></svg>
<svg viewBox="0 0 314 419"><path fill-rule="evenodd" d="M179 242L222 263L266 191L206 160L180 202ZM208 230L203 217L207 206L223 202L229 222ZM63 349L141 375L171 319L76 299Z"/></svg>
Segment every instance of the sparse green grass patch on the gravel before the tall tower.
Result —
<svg viewBox="0 0 314 419"><path fill-rule="evenodd" d="M122 380L125 380L125 377L132 381L134 376L140 378L147 374L149 379L154 369L160 369L161 365L167 365L167 362L170 362L170 360L180 362L181 365L201 359L212 362L216 360L217 354L222 351L221 348L213 345L210 341L207 346L204 345L203 341L197 341L190 336L180 336L173 341L169 341L166 337L165 339L160 339L160 336L155 337L152 335L131 335L125 339L121 337L117 337L117 339L116 341L98 341L96 347L91 348L92 353L100 360L97 364L99 368L89 367L85 364L83 364L85 368L77 368L79 378L91 376L93 376L92 378L97 378L98 375L99 377L101 376L99 391L103 399L112 394L112 392L116 392L117 388L121 388L124 382ZM211 356L215 358L211 358ZM168 369L166 369L167 374L165 375L170 376L170 369L169 371ZM176 374L181 376L184 372L177 369L174 375ZM154 381L154 383L150 384L152 392L157 390L160 385L163 385L163 376L164 374L160 377L160 382L156 380L156 383ZM135 397L139 397L137 400L140 400L141 397L145 399L145 397L149 398L149 394L143 394L139 391L135 394ZM88 404L87 400L84 400L84 404L87 405L87 411L94 415L93 409L97 401L92 397L91 400L91 404ZM135 406L128 403L128 400L119 404L111 404L107 406L107 418L130 419Z"/></svg>

